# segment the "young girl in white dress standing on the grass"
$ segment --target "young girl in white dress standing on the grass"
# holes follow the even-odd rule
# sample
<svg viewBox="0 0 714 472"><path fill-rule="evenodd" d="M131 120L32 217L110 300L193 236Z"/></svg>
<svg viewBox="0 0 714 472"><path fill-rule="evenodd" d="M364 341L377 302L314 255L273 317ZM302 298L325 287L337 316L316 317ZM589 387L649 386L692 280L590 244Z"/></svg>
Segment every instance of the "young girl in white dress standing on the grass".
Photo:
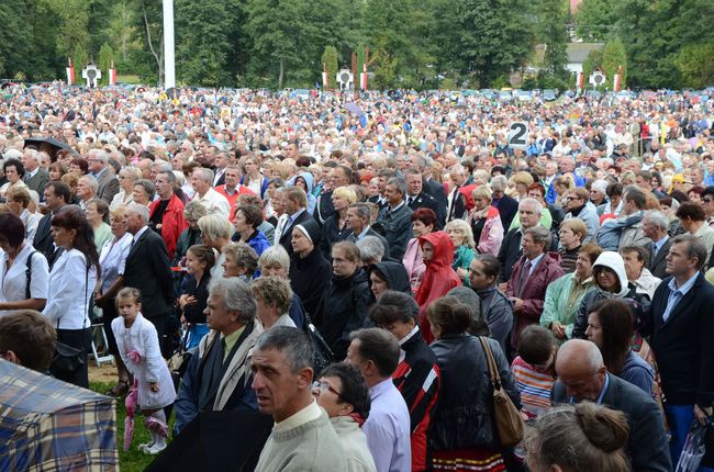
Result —
<svg viewBox="0 0 714 472"><path fill-rule="evenodd" d="M127 370L134 377L138 406L146 417L152 441L140 445L142 452L157 454L166 449L168 426L164 407L171 405L176 390L166 361L161 357L156 328L142 313L141 293L133 288L116 294L116 312L112 321L116 347ZM131 439L130 439L131 441Z"/></svg>

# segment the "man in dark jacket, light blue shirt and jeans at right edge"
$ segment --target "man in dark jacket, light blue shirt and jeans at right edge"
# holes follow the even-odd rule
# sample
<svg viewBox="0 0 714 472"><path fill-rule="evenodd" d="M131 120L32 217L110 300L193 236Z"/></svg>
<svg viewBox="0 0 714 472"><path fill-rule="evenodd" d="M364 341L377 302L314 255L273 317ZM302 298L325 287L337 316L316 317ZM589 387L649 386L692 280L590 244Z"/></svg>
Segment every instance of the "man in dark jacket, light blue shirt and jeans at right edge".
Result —
<svg viewBox="0 0 714 472"><path fill-rule="evenodd" d="M714 286L702 269L706 247L698 236L672 238L667 272L649 305L644 334L657 358L665 413L677 462L694 417L703 423L714 402Z"/></svg>

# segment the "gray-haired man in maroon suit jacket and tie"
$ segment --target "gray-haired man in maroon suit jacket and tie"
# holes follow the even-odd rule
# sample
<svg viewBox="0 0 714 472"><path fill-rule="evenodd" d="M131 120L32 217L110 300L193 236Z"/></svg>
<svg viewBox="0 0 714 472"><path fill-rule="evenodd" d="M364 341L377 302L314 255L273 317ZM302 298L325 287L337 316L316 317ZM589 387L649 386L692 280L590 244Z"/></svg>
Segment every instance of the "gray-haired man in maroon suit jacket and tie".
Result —
<svg viewBox="0 0 714 472"><path fill-rule="evenodd" d="M548 252L550 231L540 225L523 232L521 239L523 256L518 259L509 279L505 294L513 303L512 345L518 345L521 331L528 325L538 324L543 313L548 284L564 274L560 257Z"/></svg>

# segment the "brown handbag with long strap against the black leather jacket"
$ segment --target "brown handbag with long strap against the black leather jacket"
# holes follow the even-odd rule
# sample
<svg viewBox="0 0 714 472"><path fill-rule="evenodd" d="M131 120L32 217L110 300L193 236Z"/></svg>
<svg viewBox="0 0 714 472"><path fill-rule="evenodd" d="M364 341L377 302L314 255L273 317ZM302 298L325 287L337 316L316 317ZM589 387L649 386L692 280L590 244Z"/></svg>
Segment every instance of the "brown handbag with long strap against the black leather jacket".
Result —
<svg viewBox="0 0 714 472"><path fill-rule="evenodd" d="M504 447L515 446L523 440L525 423L521 417L521 412L515 407L513 401L503 389L499 368L493 358L493 351L489 340L479 336L486 361L489 366L489 378L493 387L493 418L495 419L495 429L499 434L501 445Z"/></svg>

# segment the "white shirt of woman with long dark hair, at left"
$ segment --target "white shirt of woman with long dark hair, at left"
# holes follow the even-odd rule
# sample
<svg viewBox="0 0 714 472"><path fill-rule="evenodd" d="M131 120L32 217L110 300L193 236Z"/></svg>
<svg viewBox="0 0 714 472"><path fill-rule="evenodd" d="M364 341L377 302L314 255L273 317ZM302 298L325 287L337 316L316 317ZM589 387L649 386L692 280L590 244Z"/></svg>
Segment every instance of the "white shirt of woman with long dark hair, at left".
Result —
<svg viewBox="0 0 714 472"><path fill-rule="evenodd" d="M97 268L92 266L87 272L85 255L77 249L64 251L49 273L49 293L43 315L55 328L89 327L88 305L96 284Z"/></svg>

